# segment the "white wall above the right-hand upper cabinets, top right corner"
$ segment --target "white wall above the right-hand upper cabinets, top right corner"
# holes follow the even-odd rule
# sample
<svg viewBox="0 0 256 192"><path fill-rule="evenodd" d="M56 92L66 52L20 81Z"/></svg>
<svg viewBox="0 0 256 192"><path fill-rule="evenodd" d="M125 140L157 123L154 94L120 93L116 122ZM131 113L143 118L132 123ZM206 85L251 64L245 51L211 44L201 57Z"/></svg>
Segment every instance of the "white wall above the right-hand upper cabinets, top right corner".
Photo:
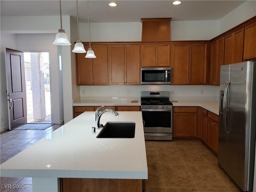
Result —
<svg viewBox="0 0 256 192"><path fill-rule="evenodd" d="M256 1L248 0L220 19L219 34L222 34L253 16L256 16Z"/></svg>

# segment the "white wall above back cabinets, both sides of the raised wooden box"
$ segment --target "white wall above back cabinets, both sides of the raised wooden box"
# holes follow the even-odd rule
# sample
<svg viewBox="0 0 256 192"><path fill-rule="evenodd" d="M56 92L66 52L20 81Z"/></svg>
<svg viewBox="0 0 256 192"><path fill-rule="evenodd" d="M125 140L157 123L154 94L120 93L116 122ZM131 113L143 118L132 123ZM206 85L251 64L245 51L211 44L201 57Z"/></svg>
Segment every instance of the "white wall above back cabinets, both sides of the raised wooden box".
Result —
<svg viewBox="0 0 256 192"><path fill-rule="evenodd" d="M219 22L213 21L171 21L171 40L210 40L218 35ZM80 23L80 40L89 41L88 24ZM92 42L141 41L142 24L91 23Z"/></svg>

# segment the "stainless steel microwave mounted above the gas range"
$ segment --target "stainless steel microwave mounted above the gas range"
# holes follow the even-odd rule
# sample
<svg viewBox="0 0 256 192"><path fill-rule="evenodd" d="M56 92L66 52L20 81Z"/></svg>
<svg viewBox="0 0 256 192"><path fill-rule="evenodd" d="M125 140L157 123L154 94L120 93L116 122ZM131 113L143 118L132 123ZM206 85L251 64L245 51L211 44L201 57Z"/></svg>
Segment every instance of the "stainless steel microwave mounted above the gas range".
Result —
<svg viewBox="0 0 256 192"><path fill-rule="evenodd" d="M141 84L171 84L172 68L170 67L154 67L141 68Z"/></svg>

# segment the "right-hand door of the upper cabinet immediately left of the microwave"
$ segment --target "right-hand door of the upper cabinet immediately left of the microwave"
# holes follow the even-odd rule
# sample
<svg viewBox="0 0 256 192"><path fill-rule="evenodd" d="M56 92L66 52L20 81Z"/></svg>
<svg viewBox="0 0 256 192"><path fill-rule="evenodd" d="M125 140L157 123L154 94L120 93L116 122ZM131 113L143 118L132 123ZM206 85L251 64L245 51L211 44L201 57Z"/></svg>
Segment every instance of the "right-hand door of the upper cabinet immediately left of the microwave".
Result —
<svg viewBox="0 0 256 192"><path fill-rule="evenodd" d="M125 45L125 84L140 84L140 45Z"/></svg>

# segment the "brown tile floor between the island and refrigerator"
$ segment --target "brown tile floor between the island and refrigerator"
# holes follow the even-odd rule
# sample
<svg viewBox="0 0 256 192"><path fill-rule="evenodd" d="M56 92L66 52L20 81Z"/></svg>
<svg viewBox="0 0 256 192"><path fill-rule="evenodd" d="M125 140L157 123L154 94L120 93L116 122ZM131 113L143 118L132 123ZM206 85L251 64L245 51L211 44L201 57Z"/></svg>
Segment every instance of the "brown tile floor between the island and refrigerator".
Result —
<svg viewBox="0 0 256 192"><path fill-rule="evenodd" d="M201 141L146 141L146 192L240 192Z"/></svg>

